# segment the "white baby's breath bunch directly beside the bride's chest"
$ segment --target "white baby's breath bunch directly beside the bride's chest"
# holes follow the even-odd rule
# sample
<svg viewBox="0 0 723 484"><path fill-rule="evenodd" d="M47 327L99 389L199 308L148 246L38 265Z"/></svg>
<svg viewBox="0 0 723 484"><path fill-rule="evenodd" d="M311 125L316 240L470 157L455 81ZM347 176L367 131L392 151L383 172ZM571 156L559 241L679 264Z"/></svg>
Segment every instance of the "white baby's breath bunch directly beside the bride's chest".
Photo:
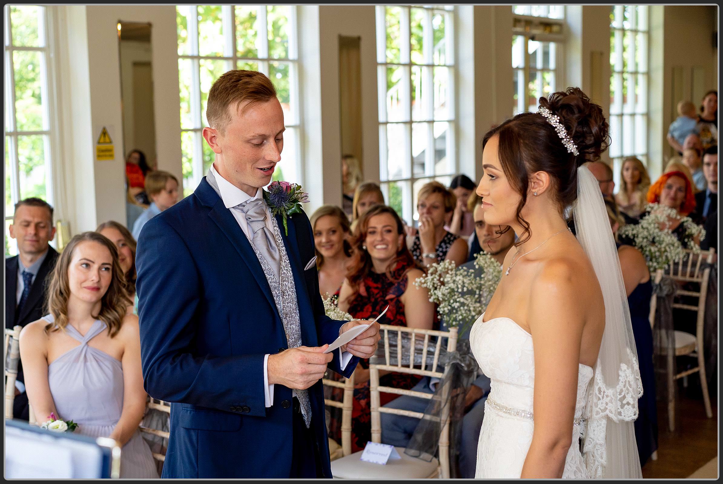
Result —
<svg viewBox="0 0 723 484"><path fill-rule="evenodd" d="M484 313L502 278L502 266L484 252L475 256L474 267L482 271L481 277L473 269L444 261L432 264L427 275L414 281L418 288L429 290L429 301L437 304L440 319L448 328L459 328L460 334Z"/></svg>

